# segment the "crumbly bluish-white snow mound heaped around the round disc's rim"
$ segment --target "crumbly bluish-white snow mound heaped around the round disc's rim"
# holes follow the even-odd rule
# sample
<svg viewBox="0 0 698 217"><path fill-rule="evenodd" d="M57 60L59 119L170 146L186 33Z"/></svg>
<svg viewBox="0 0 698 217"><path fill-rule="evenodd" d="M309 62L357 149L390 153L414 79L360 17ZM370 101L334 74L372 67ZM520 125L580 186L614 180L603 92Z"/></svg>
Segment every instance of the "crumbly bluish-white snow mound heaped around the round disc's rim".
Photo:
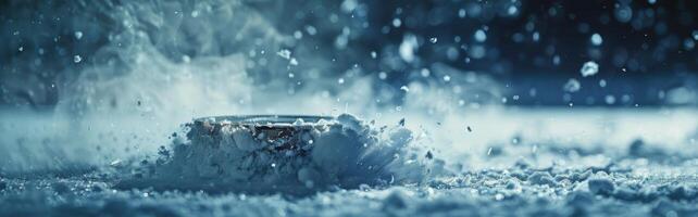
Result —
<svg viewBox="0 0 698 217"><path fill-rule="evenodd" d="M421 183L436 161L401 125L377 127L349 114L289 125L295 132L287 137L240 125L189 127L187 139L175 140L172 153L161 149L157 162L144 162L142 173L120 186L307 193Z"/></svg>

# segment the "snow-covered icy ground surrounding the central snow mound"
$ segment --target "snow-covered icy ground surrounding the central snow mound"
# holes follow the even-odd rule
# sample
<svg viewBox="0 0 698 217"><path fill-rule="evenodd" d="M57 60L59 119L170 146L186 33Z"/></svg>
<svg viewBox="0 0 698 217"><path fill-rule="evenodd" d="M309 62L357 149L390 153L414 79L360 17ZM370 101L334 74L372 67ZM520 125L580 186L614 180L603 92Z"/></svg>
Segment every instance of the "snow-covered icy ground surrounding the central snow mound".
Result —
<svg viewBox="0 0 698 217"><path fill-rule="evenodd" d="M130 130L141 132L134 136L122 126L137 120L104 117L90 135L109 136L71 140L60 137L74 133L70 128L55 130L65 125L60 118L3 112L0 216L698 215L694 110L481 112L459 119L406 118L407 128L428 141L434 161L444 161L443 170L422 182L304 194L216 191L207 182L158 188L167 180L130 189L124 181L140 178L142 159L152 161L167 136L148 136L136 126ZM394 126L399 118L386 114L376 122ZM95 141L114 150L98 149Z"/></svg>

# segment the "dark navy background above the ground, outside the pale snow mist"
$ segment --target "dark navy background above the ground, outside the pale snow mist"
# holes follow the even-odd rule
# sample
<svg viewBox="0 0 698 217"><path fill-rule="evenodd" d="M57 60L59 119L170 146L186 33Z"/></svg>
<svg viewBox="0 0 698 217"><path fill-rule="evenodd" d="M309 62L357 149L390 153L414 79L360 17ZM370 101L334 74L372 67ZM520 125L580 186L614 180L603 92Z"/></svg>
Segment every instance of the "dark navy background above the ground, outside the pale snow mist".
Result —
<svg viewBox="0 0 698 217"><path fill-rule="evenodd" d="M0 1L0 105L52 107L62 80L72 77L65 74L77 74L84 67L72 62L72 54L94 53L109 43L109 34L122 24L103 14L124 3ZM698 98L697 1L360 0L242 4L262 14L281 34L294 35L313 26L317 36L312 41L304 37L297 43L333 59L331 72L339 75L351 67L361 67L364 76L387 72L385 86L400 87L422 68L433 68L438 63L491 77L504 87L503 97L519 95L519 100L506 103L510 105L695 106ZM194 1L183 1L182 5L186 11ZM465 12L463 17L461 11ZM396 18L401 25L392 25ZM84 30L85 37L78 43L75 29L96 30ZM474 39L478 29L486 33L485 41ZM349 31L349 40L338 46L344 31ZM593 34L602 37L600 46L591 44ZM399 58L406 35L415 36L420 43L417 58L411 62ZM239 52L234 44L228 46L215 52L166 43L159 49L173 61L180 61L183 54L197 58ZM476 47L484 55L473 54ZM458 54L449 58L452 51ZM371 52L376 52L376 59ZM89 55L83 59L85 63L95 61ZM559 59L558 64L553 64L554 59ZM587 61L599 64L597 75L581 76L579 68ZM571 78L581 82L579 91L563 90ZM601 79L607 87L598 85ZM677 88L693 94L688 100L668 99ZM618 102L606 103L608 95Z"/></svg>

